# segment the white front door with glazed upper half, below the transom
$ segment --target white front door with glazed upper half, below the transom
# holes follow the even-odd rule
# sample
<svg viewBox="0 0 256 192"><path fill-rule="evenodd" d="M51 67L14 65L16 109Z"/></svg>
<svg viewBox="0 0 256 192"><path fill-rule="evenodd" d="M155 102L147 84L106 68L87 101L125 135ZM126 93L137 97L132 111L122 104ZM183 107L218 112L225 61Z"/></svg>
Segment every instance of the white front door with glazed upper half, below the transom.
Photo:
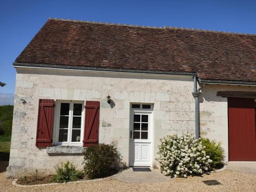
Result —
<svg viewBox="0 0 256 192"><path fill-rule="evenodd" d="M151 166L152 112L131 111L130 166Z"/></svg>

